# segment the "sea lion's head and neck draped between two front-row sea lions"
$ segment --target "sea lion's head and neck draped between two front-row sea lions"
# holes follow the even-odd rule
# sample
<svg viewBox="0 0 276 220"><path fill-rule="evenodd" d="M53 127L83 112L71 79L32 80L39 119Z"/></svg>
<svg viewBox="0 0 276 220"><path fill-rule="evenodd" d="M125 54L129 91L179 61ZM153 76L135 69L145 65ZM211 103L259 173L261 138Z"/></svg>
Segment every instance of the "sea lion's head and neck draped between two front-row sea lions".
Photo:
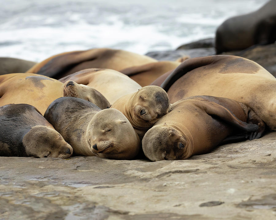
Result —
<svg viewBox="0 0 276 220"><path fill-rule="evenodd" d="M167 114L170 107L167 93L158 86L145 86L122 96L110 106L127 117L141 140L145 132Z"/></svg>

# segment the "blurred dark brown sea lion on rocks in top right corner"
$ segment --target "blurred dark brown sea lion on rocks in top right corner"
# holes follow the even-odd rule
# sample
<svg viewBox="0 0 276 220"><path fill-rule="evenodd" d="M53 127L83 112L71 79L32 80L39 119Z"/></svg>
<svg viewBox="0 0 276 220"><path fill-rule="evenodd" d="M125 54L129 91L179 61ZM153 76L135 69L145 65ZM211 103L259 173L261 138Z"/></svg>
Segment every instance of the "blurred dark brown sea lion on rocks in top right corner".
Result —
<svg viewBox="0 0 276 220"><path fill-rule="evenodd" d="M243 50L254 44L269 44L276 40L276 1L270 0L260 9L224 21L216 32L217 54Z"/></svg>

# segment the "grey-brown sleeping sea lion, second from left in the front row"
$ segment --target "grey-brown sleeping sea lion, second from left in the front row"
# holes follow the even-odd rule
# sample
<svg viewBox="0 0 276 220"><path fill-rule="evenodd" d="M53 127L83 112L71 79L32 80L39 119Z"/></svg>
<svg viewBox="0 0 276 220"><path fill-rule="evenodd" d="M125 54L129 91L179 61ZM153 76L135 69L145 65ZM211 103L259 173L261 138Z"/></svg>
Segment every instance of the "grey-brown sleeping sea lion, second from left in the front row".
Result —
<svg viewBox="0 0 276 220"><path fill-rule="evenodd" d="M138 135L116 109L101 110L83 99L61 97L50 104L44 117L77 155L132 159L139 152Z"/></svg>

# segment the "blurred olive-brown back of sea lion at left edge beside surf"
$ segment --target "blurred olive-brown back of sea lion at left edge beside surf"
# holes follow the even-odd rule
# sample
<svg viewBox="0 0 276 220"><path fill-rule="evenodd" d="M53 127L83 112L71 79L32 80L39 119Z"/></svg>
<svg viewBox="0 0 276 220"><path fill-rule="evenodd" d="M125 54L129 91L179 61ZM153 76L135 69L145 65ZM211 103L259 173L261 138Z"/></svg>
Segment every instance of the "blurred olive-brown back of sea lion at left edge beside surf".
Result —
<svg viewBox="0 0 276 220"><path fill-rule="evenodd" d="M0 57L0 75L9 73L24 73L36 62L10 57Z"/></svg>

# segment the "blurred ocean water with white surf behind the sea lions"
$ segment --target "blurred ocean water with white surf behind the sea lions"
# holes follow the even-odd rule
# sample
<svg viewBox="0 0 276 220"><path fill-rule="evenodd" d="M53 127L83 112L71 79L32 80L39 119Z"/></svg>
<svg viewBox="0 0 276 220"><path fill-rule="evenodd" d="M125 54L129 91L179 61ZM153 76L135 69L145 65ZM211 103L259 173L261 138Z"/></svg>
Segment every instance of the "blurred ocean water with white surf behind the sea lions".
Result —
<svg viewBox="0 0 276 220"><path fill-rule="evenodd" d="M139 54L215 36L267 0L0 0L0 57L40 62L95 47Z"/></svg>

